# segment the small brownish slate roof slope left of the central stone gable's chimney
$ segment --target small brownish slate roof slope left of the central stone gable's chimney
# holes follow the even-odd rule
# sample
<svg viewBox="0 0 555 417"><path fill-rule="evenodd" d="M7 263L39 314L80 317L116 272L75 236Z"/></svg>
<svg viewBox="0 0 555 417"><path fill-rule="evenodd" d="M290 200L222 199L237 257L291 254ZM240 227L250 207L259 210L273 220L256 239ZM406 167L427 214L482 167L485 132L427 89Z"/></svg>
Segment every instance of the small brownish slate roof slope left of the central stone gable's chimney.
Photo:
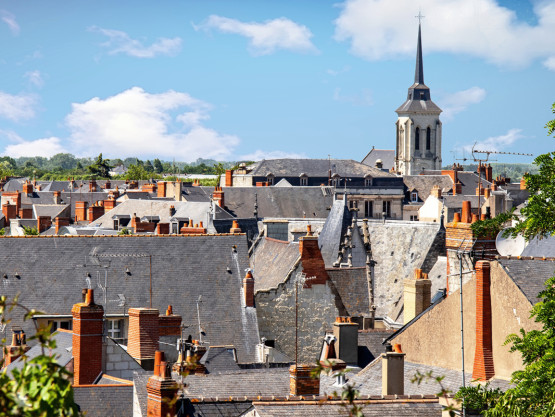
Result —
<svg viewBox="0 0 555 417"><path fill-rule="evenodd" d="M263 237L251 257L254 269L254 291L269 290L285 281L299 261L298 242L284 242Z"/></svg>

